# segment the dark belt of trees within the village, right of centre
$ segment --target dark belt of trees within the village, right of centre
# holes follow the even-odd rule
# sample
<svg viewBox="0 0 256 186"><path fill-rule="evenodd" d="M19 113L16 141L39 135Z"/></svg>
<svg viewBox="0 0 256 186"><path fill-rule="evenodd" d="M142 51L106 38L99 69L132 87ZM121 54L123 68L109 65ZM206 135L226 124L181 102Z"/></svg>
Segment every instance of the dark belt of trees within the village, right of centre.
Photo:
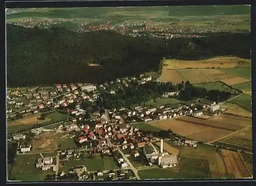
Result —
<svg viewBox="0 0 256 186"><path fill-rule="evenodd" d="M101 91L96 105L106 109L130 107L133 104L141 104L161 97L165 92L180 91L175 98L188 101L194 98L207 98L217 103L223 102L231 97L228 91L207 90L202 87L195 87L189 81L173 85L172 83L148 82L141 86L132 86L126 89L119 89L116 94Z"/></svg>

